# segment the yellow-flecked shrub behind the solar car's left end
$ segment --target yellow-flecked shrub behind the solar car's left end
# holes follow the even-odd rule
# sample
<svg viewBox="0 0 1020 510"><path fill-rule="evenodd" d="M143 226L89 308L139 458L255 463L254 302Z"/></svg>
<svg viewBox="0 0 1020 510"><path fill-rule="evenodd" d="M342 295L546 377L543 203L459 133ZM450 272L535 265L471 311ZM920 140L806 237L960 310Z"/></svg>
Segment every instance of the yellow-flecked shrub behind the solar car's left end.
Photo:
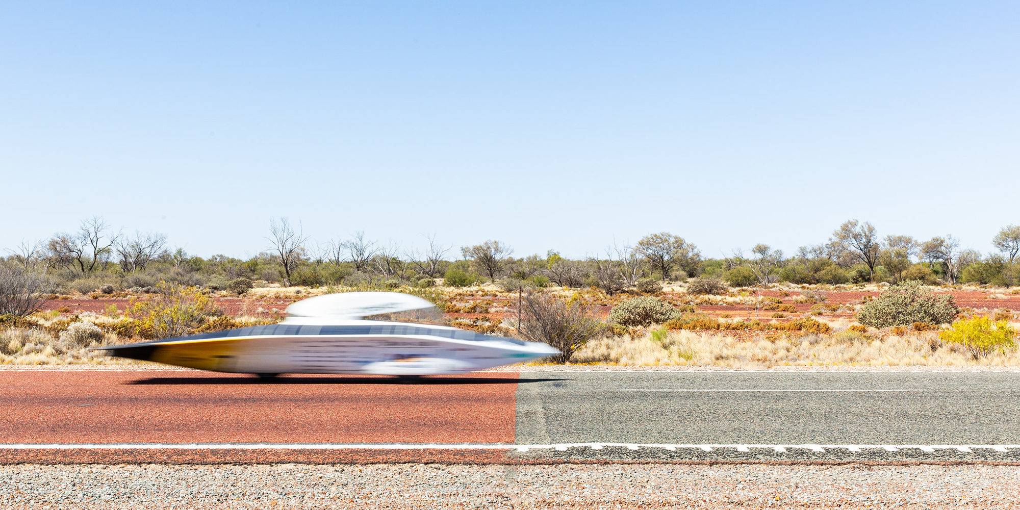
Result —
<svg viewBox="0 0 1020 510"><path fill-rule="evenodd" d="M135 303L129 315L139 321L139 329L151 329L153 338L181 337L205 323L207 317L219 315L209 297L191 287L161 284L159 297Z"/></svg>

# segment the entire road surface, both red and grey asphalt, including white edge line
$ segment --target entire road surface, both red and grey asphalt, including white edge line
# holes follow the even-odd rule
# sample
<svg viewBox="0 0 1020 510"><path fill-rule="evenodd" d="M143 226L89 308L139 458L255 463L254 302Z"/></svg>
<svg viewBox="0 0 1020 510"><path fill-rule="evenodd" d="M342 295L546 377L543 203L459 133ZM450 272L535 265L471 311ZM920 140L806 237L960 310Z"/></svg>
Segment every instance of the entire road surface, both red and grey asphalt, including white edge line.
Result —
<svg viewBox="0 0 1020 510"><path fill-rule="evenodd" d="M1015 372L0 371L0 463L1020 464Z"/></svg>

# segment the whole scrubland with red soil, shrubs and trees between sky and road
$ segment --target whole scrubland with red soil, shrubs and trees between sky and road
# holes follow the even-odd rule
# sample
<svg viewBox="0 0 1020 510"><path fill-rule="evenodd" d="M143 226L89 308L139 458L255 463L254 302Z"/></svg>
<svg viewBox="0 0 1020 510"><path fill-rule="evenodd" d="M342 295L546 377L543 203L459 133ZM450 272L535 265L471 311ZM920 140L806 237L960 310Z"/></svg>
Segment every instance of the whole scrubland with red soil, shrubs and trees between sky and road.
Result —
<svg viewBox="0 0 1020 510"><path fill-rule="evenodd" d="M548 342L558 363L1020 366L1012 225L987 255L848 221L790 257L757 245L706 259L661 233L582 260L514 258L497 241L454 257L431 238L401 252L361 233L313 253L287 220L271 226L271 246L248 260L113 236L100 218L8 250L0 363L134 363L89 349L272 323L295 300L386 290L428 299L458 327Z"/></svg>

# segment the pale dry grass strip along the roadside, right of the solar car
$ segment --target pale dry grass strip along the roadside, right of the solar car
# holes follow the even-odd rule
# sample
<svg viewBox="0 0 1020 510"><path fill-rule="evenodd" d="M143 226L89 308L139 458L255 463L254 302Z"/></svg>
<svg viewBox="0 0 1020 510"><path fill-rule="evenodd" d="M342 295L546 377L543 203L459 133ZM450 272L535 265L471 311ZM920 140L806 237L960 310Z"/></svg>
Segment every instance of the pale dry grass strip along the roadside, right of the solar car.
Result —
<svg viewBox="0 0 1020 510"><path fill-rule="evenodd" d="M843 332L829 336L769 335L752 341L723 335L671 332L661 341L604 338L589 343L571 363L629 366L714 365L736 369L782 366L1017 366L1020 354L1006 351L974 359L960 346L942 345L934 333L871 337Z"/></svg>

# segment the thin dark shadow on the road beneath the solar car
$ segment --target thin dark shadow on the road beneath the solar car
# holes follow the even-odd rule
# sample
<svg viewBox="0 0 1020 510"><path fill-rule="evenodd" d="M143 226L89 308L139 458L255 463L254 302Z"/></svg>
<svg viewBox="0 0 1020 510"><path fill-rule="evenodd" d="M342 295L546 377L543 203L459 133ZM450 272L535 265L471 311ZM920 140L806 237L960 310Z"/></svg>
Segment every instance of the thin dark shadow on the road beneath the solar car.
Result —
<svg viewBox="0 0 1020 510"><path fill-rule="evenodd" d="M188 385L406 385L406 386L459 386L459 385L517 385L562 380L558 378L526 378L517 377L418 377L406 379L396 376L318 376L284 375L273 378L256 376L205 376L205 377L149 377L130 380L124 385L157 385L157 386L188 386Z"/></svg>

